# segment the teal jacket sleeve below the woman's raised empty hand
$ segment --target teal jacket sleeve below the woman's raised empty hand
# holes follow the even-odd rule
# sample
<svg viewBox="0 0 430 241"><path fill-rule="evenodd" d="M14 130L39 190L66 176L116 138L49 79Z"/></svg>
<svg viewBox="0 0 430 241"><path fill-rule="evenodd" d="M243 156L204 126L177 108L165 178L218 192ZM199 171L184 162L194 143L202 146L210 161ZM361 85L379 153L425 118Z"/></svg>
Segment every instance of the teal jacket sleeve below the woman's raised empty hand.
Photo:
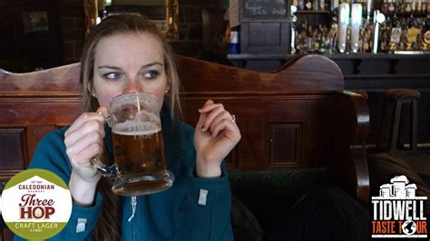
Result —
<svg viewBox="0 0 430 241"><path fill-rule="evenodd" d="M193 131L187 134L191 135L189 140L192 141ZM193 145L182 152L181 159L188 173L185 198L176 220L178 236L175 240L234 240L230 221L230 181L224 162L220 178L198 178Z"/></svg>

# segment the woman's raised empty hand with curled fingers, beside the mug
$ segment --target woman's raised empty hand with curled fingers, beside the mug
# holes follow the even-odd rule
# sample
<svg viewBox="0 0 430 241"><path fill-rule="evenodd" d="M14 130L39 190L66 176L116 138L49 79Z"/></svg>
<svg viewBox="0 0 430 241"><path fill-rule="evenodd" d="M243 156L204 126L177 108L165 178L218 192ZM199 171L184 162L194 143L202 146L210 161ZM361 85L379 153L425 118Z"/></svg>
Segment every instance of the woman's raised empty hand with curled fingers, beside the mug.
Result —
<svg viewBox="0 0 430 241"><path fill-rule="evenodd" d="M240 140L233 116L221 103L206 101L199 110L200 119L194 134L197 152L196 171L200 178L218 178L220 164Z"/></svg>

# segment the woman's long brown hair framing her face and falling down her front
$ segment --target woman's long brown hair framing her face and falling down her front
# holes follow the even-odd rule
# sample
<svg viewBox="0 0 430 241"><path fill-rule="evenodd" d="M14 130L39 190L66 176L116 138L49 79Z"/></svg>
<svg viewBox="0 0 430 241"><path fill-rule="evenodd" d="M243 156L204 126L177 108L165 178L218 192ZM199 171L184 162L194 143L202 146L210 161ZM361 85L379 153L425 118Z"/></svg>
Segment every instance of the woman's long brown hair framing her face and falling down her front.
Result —
<svg viewBox="0 0 430 241"><path fill-rule="evenodd" d="M181 113L179 99L180 82L176 72L171 45L167 43L164 35L146 17L140 14L113 14L103 19L96 25L83 46L81 57L80 82L83 94L83 112L96 111L99 103L92 96L94 76L94 56L97 43L105 37L115 34L147 33L155 36L161 43L163 50L164 68L167 82L170 85L170 93L166 101L171 103L171 118L175 113ZM94 240L121 240L122 207L121 200L112 193L112 182L108 178L101 178L97 189L103 195L102 214L93 231Z"/></svg>

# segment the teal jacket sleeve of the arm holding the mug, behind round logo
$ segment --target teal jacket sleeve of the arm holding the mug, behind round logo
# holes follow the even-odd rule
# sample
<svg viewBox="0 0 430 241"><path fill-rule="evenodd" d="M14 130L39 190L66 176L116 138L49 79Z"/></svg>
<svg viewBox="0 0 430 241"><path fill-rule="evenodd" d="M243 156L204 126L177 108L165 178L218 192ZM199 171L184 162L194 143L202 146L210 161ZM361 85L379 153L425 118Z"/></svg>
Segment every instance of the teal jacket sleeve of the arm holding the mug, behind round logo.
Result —
<svg viewBox="0 0 430 241"><path fill-rule="evenodd" d="M55 130L39 142L34 151L29 169L46 169L52 171L68 185L72 166L65 153L64 130ZM97 192L93 207L73 205L72 214L67 225L59 234L50 238L50 240L91 240L93 228L100 216L102 203L102 195L100 192ZM14 240L24 239L20 236L15 236Z"/></svg>

